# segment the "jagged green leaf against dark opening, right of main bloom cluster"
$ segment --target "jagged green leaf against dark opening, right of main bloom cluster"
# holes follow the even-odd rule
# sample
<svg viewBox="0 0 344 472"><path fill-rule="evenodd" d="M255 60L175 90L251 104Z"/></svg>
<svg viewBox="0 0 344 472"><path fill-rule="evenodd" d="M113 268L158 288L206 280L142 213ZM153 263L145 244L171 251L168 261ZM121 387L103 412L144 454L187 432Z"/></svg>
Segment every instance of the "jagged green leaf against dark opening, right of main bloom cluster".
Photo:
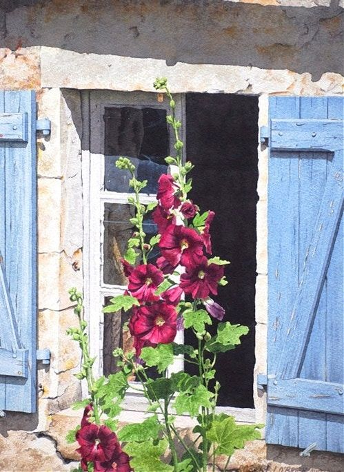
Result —
<svg viewBox="0 0 344 472"><path fill-rule="evenodd" d="M231 325L229 321L219 323L217 334L205 343L205 349L210 352L226 352L235 349L241 343L241 336L247 334L247 326Z"/></svg>

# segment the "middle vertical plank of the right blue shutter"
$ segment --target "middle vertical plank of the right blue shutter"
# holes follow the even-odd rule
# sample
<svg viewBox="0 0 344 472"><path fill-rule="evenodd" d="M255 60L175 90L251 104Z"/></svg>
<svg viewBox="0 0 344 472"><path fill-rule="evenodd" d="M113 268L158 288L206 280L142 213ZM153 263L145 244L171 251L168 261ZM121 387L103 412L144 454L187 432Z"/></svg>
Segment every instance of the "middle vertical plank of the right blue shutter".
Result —
<svg viewBox="0 0 344 472"><path fill-rule="evenodd" d="M304 97L301 99L301 119L327 119L327 99ZM315 130L316 132L318 130ZM326 152L302 152L299 174L299 283L305 269L307 248L313 236L314 221L319 210L326 185ZM323 286L312 331L307 340L307 349L300 377L325 380L325 349L323 344L326 330L327 287ZM316 449L326 449L326 413L299 411L299 447L305 449L316 442Z"/></svg>

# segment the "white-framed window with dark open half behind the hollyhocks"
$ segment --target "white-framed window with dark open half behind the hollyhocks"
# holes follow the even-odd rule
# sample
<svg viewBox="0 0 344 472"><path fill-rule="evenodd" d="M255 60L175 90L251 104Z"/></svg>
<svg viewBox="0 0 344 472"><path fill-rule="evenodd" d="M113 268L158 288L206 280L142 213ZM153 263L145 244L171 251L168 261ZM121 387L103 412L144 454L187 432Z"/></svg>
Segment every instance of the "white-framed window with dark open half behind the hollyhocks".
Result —
<svg viewBox="0 0 344 472"><path fill-rule="evenodd" d="M121 257L133 231L128 176L114 163L119 156L130 157L138 177L149 182L143 202L155 200L156 181L167 170L164 158L172 152L173 144L165 123L168 101L158 98L158 94L143 92L90 92L90 201L86 204L90 266L85 266L90 277L85 287L89 292L86 303L92 354L98 356L100 373L115 371L115 347L131 346L123 328L128 315L101 313L112 296L123 292ZM217 300L225 307L227 319L250 327L243 346L224 354L219 362L220 404L252 408L258 99L229 94L175 98L176 113L186 114L182 116L186 156L196 164L192 198L202 209L216 212L214 253L232 261L227 269L230 284L221 289ZM148 234L155 231L152 220L145 224ZM180 336L178 342L183 342ZM173 370L182 368L183 359L177 359ZM136 406L139 409L139 400Z"/></svg>

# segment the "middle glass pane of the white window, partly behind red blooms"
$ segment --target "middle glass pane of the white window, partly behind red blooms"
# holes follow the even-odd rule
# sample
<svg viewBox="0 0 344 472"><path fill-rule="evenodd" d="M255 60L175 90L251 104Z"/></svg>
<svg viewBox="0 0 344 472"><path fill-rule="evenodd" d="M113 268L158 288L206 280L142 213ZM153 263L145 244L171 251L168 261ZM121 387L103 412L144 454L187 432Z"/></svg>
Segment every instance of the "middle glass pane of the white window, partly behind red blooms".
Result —
<svg viewBox="0 0 344 472"><path fill-rule="evenodd" d="M104 205L104 245L103 245L103 280L111 285L126 285L127 280L123 273L121 259L126 250L128 240L135 231L129 219L134 216L134 208L123 203L105 203ZM152 218L146 217L143 221L143 231L146 240L157 232ZM154 250L148 256L148 262L153 262L159 255L159 249ZM136 261L140 263L138 259Z"/></svg>

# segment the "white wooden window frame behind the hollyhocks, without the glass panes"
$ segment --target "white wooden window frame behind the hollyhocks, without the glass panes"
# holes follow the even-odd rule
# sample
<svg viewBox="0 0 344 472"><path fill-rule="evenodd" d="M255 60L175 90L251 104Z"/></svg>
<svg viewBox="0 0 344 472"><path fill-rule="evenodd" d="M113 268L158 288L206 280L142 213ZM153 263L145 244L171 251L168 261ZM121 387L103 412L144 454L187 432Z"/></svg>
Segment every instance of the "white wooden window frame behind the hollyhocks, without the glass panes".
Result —
<svg viewBox="0 0 344 472"><path fill-rule="evenodd" d="M132 194L110 192L104 188L104 134L105 126L103 115L105 107L159 107L168 112L168 100L158 101L158 94L154 92L116 92L110 90L83 91L82 94L83 115L83 220L84 220L84 244L83 244L83 274L84 274L84 305L85 319L88 320L90 333L90 354L96 357L94 372L103 375L103 300L106 296L116 296L123 293L123 286L103 283L103 214L105 203L128 203L128 196ZM183 127L181 139L185 143L185 96L176 94L176 115L181 116ZM173 150L173 136L169 130L170 152ZM184 147L185 149L185 147ZM156 200L154 194L142 194L142 203L150 203ZM99 262L97 262L99 261ZM183 342L183 332L179 331L176 342ZM178 356L170 369L179 371L183 369L183 356ZM137 382L133 382L137 388ZM83 387L85 389L85 386ZM83 391L84 396L87 395ZM128 389L125 396L125 411L133 412L133 420L142 418L142 412L148 407L147 400L136 389ZM237 421L254 423L255 410L235 407L216 407L216 411L234 415ZM139 416L138 416L139 415ZM125 417L126 418L126 415ZM181 417L181 424L192 426L193 420ZM186 420L186 422L185 422Z"/></svg>

